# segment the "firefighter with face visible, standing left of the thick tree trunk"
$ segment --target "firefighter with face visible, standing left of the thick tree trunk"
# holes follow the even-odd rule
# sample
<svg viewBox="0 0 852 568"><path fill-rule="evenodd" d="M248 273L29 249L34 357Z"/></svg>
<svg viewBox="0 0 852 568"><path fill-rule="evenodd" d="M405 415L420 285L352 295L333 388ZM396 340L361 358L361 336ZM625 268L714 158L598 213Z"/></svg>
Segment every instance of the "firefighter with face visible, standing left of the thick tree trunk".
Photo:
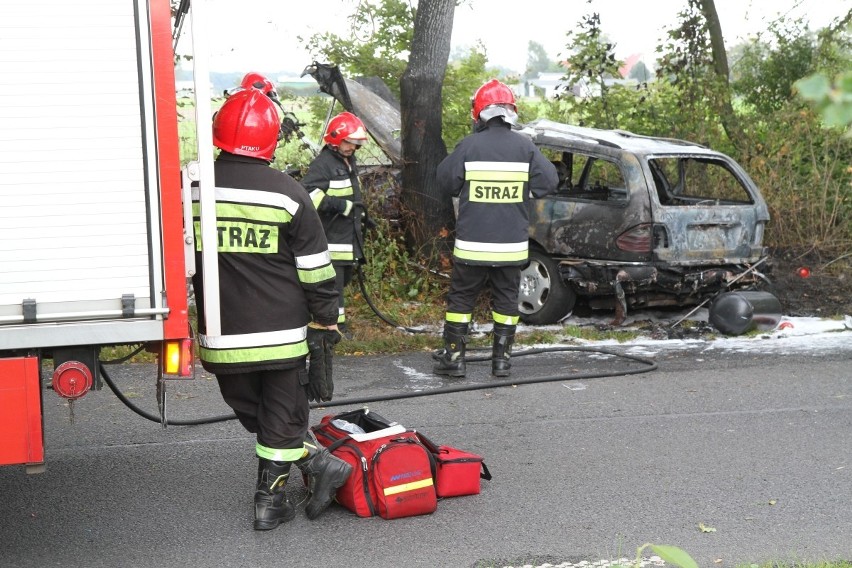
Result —
<svg viewBox="0 0 852 568"><path fill-rule="evenodd" d="M328 122L323 141L325 146L301 181L319 212L328 238L339 294L337 324L346 334L343 289L352 281L355 263L364 258L361 229L364 206L355 151L367 142L367 129L357 116L342 112Z"/></svg>

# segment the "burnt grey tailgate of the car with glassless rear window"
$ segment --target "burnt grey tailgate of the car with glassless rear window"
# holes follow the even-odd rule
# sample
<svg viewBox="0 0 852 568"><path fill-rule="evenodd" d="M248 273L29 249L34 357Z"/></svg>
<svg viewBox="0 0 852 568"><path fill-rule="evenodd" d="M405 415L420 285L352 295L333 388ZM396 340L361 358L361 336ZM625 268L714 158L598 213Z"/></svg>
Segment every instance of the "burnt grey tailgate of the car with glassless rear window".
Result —
<svg viewBox="0 0 852 568"><path fill-rule="evenodd" d="M755 262L769 211L754 182L724 155L649 156L658 260L670 265Z"/></svg>

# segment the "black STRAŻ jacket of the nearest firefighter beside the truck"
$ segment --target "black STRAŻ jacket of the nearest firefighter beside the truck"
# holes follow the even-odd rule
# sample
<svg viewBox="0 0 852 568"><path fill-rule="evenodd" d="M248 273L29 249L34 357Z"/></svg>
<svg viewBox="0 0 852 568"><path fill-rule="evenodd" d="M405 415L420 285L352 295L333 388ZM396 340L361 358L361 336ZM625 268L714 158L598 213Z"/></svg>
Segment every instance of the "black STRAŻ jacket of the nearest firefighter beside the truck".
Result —
<svg viewBox="0 0 852 568"><path fill-rule="evenodd" d="M216 228L222 335L207 335L202 309L198 188L193 287L200 358L212 373L304 365L306 326L337 322L337 291L328 243L304 189L264 160L221 152L215 162Z"/></svg>

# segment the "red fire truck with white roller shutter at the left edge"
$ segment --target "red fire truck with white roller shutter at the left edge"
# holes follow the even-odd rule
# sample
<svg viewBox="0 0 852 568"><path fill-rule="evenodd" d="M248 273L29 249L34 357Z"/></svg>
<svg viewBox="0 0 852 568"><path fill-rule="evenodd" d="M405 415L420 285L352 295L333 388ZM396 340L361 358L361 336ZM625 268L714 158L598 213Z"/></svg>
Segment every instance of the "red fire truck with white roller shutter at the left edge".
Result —
<svg viewBox="0 0 852 568"><path fill-rule="evenodd" d="M212 179L211 113L182 171L173 41L169 0L0 4L0 465L44 470L45 397L101 388L107 346L155 353L163 401L192 377L183 192Z"/></svg>

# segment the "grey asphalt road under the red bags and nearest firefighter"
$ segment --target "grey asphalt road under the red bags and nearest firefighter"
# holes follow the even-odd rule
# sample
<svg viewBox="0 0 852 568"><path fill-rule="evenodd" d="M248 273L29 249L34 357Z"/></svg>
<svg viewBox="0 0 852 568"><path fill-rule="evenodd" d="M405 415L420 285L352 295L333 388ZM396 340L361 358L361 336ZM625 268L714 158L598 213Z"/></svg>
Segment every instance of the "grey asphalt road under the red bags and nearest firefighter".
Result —
<svg viewBox="0 0 852 568"><path fill-rule="evenodd" d="M428 516L334 504L270 532L251 529L254 441L235 421L163 429L105 388L75 403L72 422L46 391L47 471L0 468L0 566L568 566L646 542L702 567L852 560L852 332L606 349L657 368L549 353L516 358L513 378L565 378L490 387L486 365L442 379L427 353L338 358L335 402L476 387L368 406L483 455L493 479ZM150 366L110 371L156 411ZM314 410L312 423L357 406ZM229 413L203 372L170 385L169 409ZM290 489L304 496L298 476Z"/></svg>

